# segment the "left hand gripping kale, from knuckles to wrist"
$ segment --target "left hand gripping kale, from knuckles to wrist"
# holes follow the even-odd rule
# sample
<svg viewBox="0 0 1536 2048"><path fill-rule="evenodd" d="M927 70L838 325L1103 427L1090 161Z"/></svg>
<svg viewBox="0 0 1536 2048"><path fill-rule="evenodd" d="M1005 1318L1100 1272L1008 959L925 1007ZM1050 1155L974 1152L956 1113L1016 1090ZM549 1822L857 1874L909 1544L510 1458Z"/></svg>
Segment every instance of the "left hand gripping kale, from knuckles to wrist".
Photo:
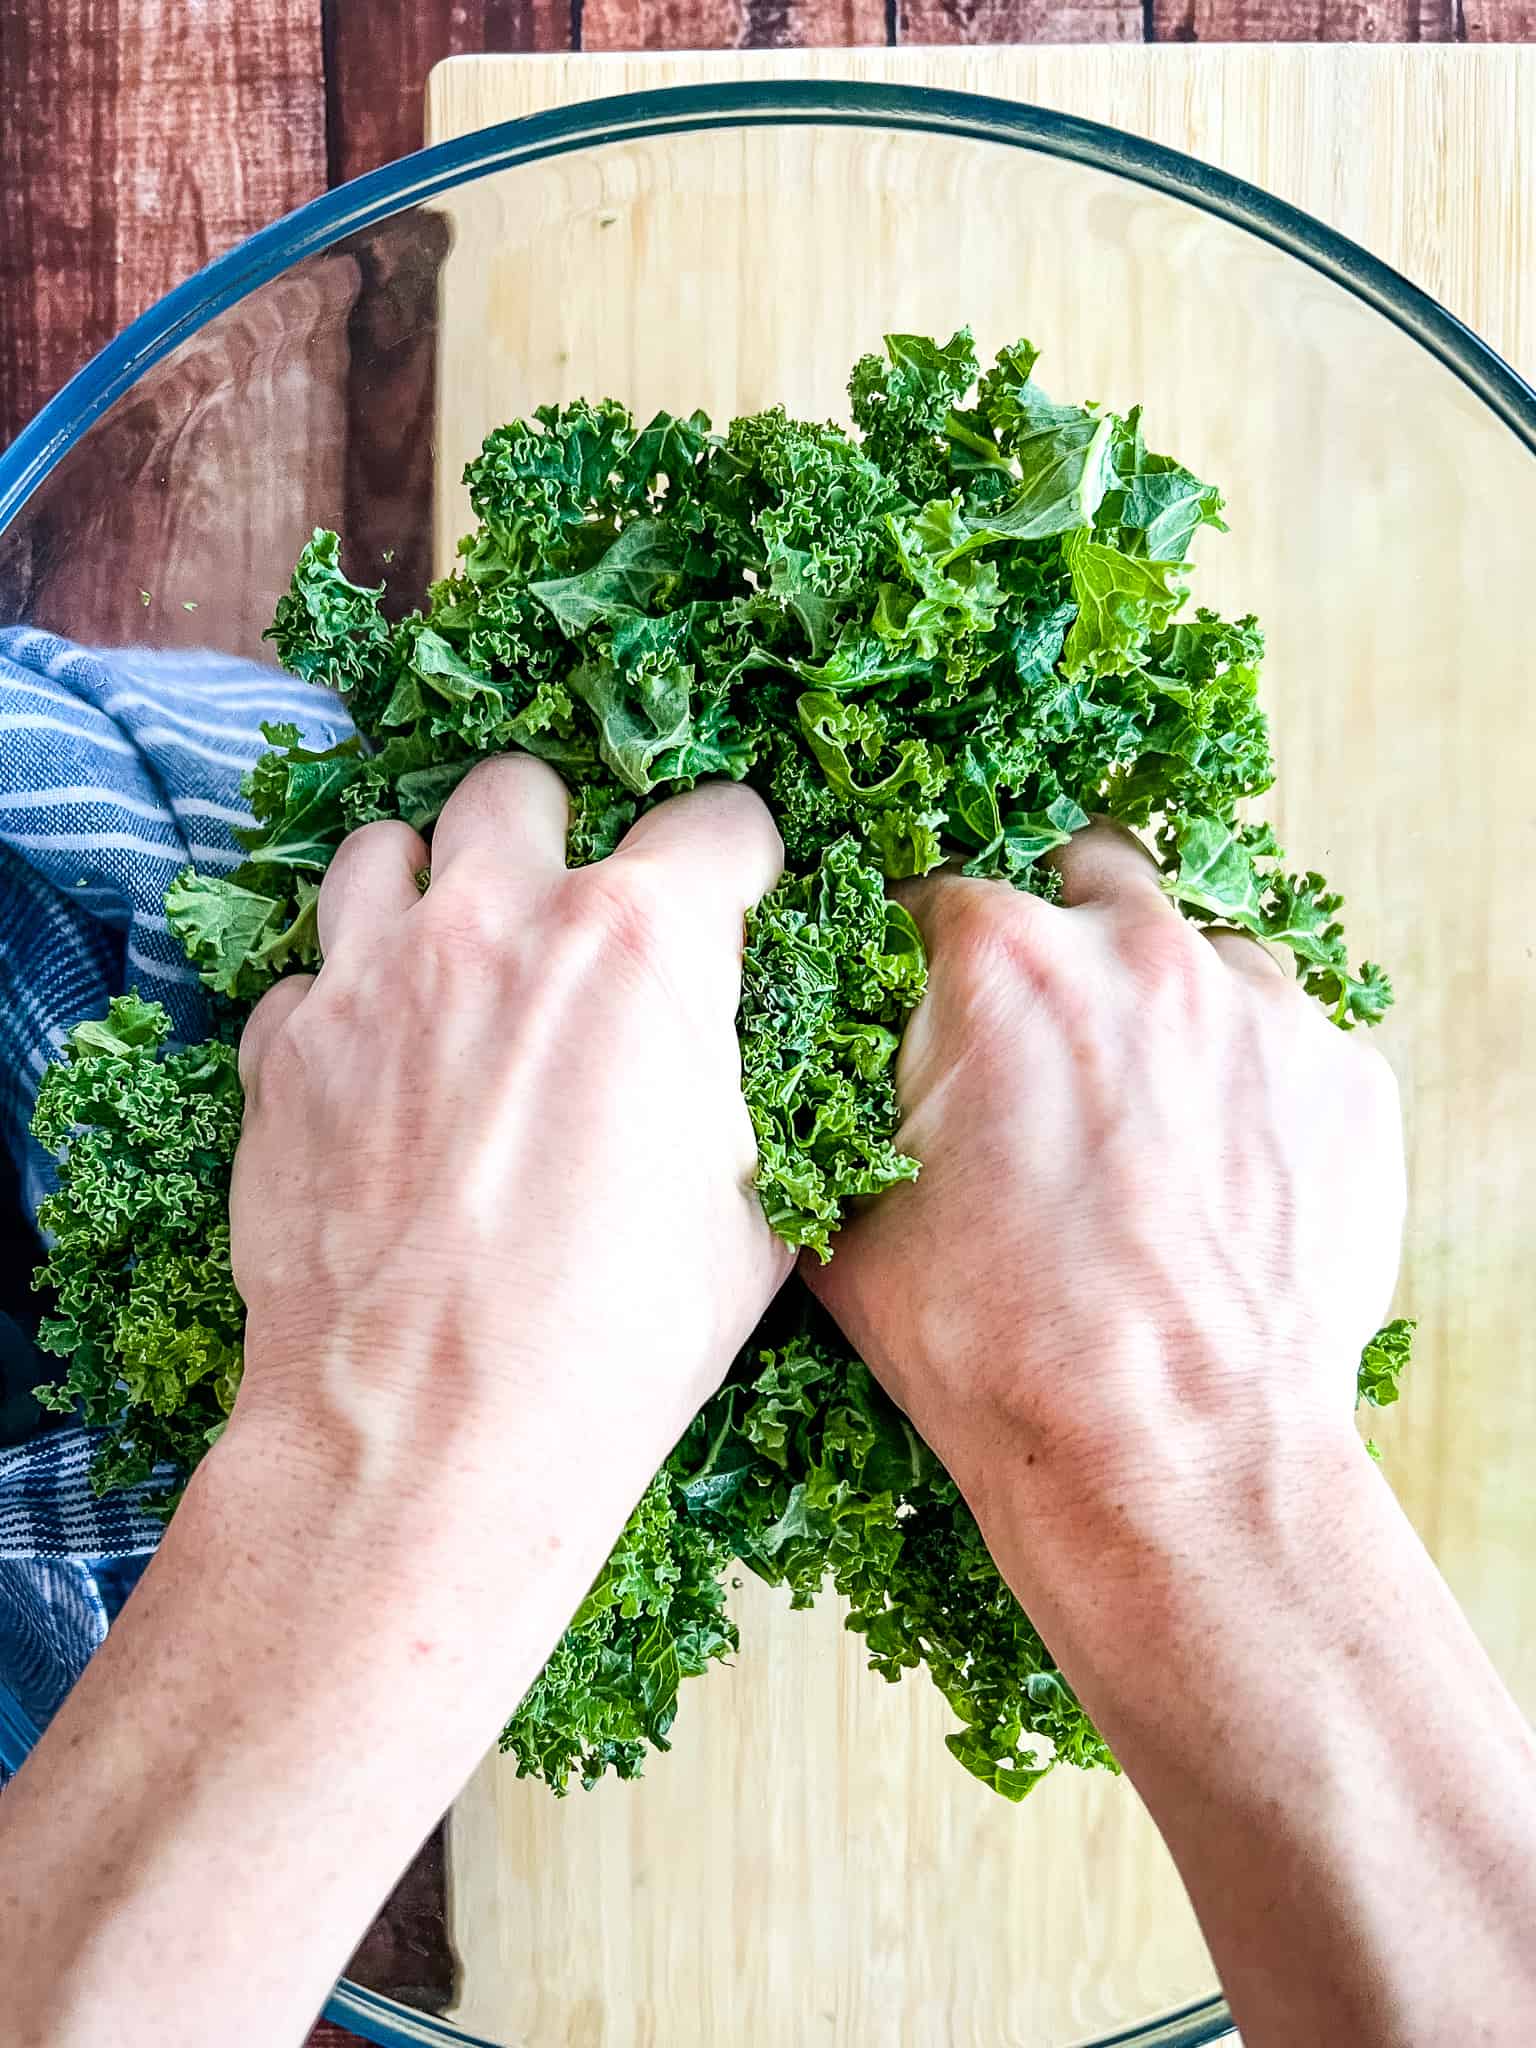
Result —
<svg viewBox="0 0 1536 2048"><path fill-rule="evenodd" d="M725 786L567 870L565 791L526 756L455 791L426 895L408 825L344 842L324 969L240 1047L236 1425L469 1446L496 1483L539 1409L633 1499L788 1266L735 1038L743 913L780 858Z"/></svg>

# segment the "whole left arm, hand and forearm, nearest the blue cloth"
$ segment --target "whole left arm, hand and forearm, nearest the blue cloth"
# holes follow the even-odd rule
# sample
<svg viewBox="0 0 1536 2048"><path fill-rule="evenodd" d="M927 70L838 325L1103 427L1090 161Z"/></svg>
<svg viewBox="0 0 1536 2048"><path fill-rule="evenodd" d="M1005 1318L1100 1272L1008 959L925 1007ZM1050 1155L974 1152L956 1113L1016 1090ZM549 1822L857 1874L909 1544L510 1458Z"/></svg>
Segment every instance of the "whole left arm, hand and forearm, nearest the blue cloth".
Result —
<svg viewBox="0 0 1536 2048"><path fill-rule="evenodd" d="M768 813L700 791L580 872L563 827L508 758L426 895L356 834L250 1018L246 1374L2 1802L6 2048L299 2042L788 1270L733 1028Z"/></svg>

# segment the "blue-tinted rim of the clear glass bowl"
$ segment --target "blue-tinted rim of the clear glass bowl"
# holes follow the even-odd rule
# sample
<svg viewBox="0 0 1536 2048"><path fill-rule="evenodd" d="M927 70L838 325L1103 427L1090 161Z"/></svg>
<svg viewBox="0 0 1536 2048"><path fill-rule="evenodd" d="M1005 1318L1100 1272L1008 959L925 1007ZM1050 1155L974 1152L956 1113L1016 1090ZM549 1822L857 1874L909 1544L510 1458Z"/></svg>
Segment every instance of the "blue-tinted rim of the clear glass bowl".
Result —
<svg viewBox="0 0 1536 2048"><path fill-rule="evenodd" d="M649 135L719 127L872 127L967 137L1053 156L1126 178L1214 215L1370 305L1417 340L1536 455L1536 389L1464 322L1358 242L1284 199L1180 150L1100 121L934 86L874 80L745 80L659 86L606 94L522 115L432 143L334 186L215 256L133 319L0 449L0 537L88 428L139 377L219 313L307 256L391 213L518 164ZM35 1731L0 1688L0 1751L18 1765ZM412 2011L342 1978L326 2017L385 2048L496 2048L453 2021ZM1219 1997L1198 1999L1112 2036L1094 2048L1206 2048L1231 2038Z"/></svg>

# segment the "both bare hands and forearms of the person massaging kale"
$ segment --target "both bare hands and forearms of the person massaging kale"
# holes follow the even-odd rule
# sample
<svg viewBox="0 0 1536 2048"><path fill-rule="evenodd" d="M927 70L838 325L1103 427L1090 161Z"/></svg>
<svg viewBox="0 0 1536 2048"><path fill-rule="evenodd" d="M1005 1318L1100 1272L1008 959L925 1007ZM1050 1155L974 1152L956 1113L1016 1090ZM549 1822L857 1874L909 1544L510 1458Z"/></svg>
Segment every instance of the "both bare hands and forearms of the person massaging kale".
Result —
<svg viewBox="0 0 1536 2048"><path fill-rule="evenodd" d="M549 770L477 768L426 897L414 834L358 834L319 979L252 1018L246 1378L0 1800L6 2048L299 2042L784 1276L733 1034L766 813L680 799L584 877L561 821ZM1116 834L1063 907L909 901L924 1171L823 1300L1163 1829L1247 2048L1528 2048L1530 1731L1350 1425L1384 1069Z"/></svg>

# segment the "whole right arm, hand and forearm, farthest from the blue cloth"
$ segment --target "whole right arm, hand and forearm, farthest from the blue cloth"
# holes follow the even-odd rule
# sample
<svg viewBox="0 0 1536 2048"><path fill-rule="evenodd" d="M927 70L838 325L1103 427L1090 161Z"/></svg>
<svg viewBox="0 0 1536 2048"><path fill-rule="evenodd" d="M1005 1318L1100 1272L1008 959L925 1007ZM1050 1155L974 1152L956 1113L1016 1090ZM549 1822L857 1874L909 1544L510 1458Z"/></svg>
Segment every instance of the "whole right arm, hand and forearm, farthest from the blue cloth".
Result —
<svg viewBox="0 0 1536 2048"><path fill-rule="evenodd" d="M1520 2048L1536 1747L1350 1413L1393 1079L1128 836L1061 872L905 893L922 1176L813 1286L1163 1829L1247 2048Z"/></svg>

